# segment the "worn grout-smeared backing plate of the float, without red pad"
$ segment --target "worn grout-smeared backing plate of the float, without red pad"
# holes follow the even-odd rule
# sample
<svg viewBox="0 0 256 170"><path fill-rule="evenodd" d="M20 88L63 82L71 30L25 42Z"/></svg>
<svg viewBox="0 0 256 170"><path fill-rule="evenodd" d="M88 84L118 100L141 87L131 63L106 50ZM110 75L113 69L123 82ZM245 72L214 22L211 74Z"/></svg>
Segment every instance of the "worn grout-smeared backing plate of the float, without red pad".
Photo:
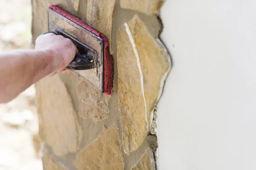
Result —
<svg viewBox="0 0 256 170"><path fill-rule="evenodd" d="M104 42L102 38L52 9L48 9L48 26L49 32L57 30L68 36L76 44L79 53L91 53L94 57L95 67L89 70L74 70L73 73L99 91L104 92Z"/></svg>

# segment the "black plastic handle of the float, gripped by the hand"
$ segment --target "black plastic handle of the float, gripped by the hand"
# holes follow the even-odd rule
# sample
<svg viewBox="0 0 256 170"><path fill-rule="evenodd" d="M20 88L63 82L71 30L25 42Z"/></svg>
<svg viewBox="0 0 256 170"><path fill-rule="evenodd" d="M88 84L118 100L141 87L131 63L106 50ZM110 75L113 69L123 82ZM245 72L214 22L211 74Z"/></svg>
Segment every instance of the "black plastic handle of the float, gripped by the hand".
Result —
<svg viewBox="0 0 256 170"><path fill-rule="evenodd" d="M53 33L55 35L61 35L58 31L51 31L47 33ZM47 34L45 33L45 34ZM95 66L94 57L87 54L79 54L76 55L73 61L65 68L65 69L71 69L71 70L86 70L86 69L93 69Z"/></svg>

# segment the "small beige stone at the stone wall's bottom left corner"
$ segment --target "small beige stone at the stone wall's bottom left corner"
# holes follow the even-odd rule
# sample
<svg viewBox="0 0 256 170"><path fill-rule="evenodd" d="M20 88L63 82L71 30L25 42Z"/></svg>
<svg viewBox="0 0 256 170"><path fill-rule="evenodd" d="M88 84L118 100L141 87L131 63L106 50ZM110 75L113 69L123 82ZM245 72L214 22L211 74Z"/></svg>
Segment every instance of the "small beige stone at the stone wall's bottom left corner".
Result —
<svg viewBox="0 0 256 170"><path fill-rule="evenodd" d="M43 164L44 170L68 170L46 152L44 153Z"/></svg>

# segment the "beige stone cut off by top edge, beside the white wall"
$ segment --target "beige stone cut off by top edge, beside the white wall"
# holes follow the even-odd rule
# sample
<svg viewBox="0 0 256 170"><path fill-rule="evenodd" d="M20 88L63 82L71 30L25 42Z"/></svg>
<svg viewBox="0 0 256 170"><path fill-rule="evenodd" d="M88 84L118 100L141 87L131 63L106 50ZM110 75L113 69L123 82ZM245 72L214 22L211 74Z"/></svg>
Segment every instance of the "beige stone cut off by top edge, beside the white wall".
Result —
<svg viewBox="0 0 256 170"><path fill-rule="evenodd" d="M147 15L157 13L164 0L120 0L120 6L124 9L130 9Z"/></svg>

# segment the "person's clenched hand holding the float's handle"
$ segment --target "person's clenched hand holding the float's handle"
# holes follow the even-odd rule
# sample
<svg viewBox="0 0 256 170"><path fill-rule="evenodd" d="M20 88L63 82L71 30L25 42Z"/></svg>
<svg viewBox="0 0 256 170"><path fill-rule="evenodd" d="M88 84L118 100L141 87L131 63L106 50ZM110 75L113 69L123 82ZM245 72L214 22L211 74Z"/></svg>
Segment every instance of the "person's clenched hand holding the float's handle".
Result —
<svg viewBox="0 0 256 170"><path fill-rule="evenodd" d="M40 35L35 41L35 50L42 51L44 56L52 56L52 73L48 76L53 76L56 72L63 72L65 67L70 64L70 62L78 54L78 50L75 44L68 38L62 35L55 35L53 33L47 33L45 35ZM72 72L73 70L68 70Z"/></svg>

